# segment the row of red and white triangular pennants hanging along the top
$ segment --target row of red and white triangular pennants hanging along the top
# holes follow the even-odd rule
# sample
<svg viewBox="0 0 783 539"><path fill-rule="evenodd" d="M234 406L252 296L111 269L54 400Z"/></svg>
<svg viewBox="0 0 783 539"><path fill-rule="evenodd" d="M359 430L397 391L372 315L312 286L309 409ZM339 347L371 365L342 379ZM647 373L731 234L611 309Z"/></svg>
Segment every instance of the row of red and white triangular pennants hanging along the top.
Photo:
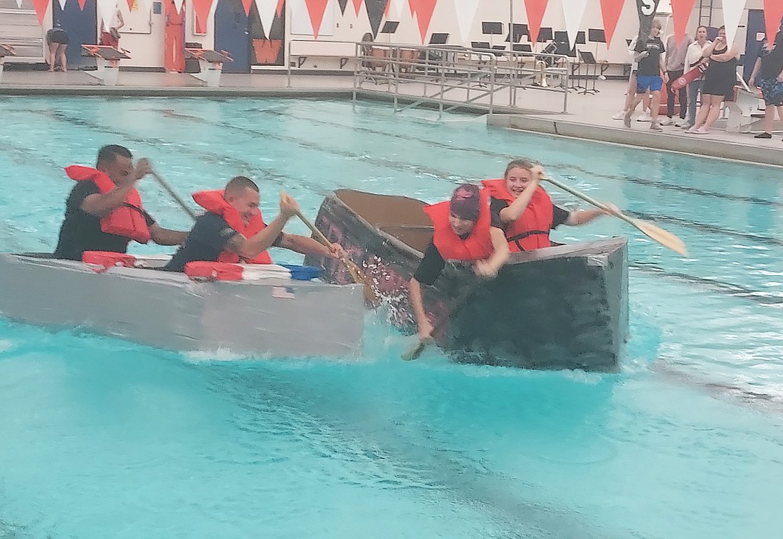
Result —
<svg viewBox="0 0 783 539"><path fill-rule="evenodd" d="M16 5L21 8L25 1L26 0L16 0ZM42 24L46 10L49 8L50 0L29 1L32 2L33 9L38 15L38 23ZM110 20L112 16L114 16L115 9L117 9L118 1L121 2L121 0L97 0L99 12L101 13L101 17L106 26L110 25ZM128 2L128 9L133 9L135 0L125 1ZM186 0L173 1L175 2L177 9L182 9L182 4ZM211 9L218 0L188 1L193 4L197 25L201 29L205 29ZM58 0L58 2L60 3L60 7L65 9L66 2L74 2L74 0ZM78 2L81 9L85 8L85 0L76 0L76 2ZM145 5L145 9L152 8L153 0L140 0L140 2ZM276 17L279 17L282 13L286 0L241 0L241 2L244 6L245 13L248 15L250 14L252 3L255 2L262 27L265 32L269 34L272 23ZM321 23L323 23L324 13L326 13L330 2L334 2L334 0L288 0L288 2L304 3L309 15L310 23L312 24L313 35L317 39ZM438 8L438 5L443 5L446 2L453 3L460 34L463 38L467 38L467 34L473 26L475 17L478 14L478 9L482 4L489 5L489 3L492 2L496 5L496 2L500 2L500 0L337 0L341 13L344 15L346 9L348 9L348 5L351 5L356 16L359 16L364 7L370 20L370 27L372 28L373 35L377 34L378 28L381 25L381 20L383 20L384 16L387 19L400 20L403 14L406 13L407 8L410 12L410 16L417 20L422 43L424 43L428 34L428 29L432 16L435 14L435 9ZM541 29L543 17L547 13L547 9L556 9L553 7L553 4L556 4L557 0L522 0L522 2L525 5L525 12L527 14L530 41L535 43L538 41L538 34ZM576 42L576 34L579 31L579 25L582 23L588 3L597 2L598 6L601 8L601 17L604 22L604 36L608 46L612 43L612 38L614 37L623 6L626 2L633 2L633 0L560 0L560 2L565 18L565 30L568 32L568 39L571 43ZM648 11L652 10L654 12L659 0L635 0L635 2L637 4L637 13L639 14L641 21L644 20L645 15L650 15ZM677 41L680 42L684 37L687 23L693 13L696 0L670 0L670 2L672 7L674 34L677 37ZM729 43L734 41L746 2L747 0L721 0L723 24L726 26L726 37ZM770 39L774 39L775 34L778 33L778 28L781 26L781 20L783 20L783 1L763 0L763 9L767 26L767 36L769 36Z"/></svg>

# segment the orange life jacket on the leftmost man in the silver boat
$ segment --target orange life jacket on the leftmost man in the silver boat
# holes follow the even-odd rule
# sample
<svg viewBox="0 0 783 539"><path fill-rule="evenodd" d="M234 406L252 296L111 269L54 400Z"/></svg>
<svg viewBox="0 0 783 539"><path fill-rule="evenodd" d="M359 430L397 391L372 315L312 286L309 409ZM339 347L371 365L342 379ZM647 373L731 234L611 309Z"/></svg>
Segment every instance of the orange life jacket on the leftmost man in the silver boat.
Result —
<svg viewBox="0 0 783 539"><path fill-rule="evenodd" d="M70 165L65 167L65 172L72 180L92 181L101 193L117 188L111 178L96 168ZM106 217L101 217L100 229L106 234L121 235L139 243L147 243L150 241L150 227L146 224L143 210L139 192L135 188L131 189L121 207Z"/></svg>

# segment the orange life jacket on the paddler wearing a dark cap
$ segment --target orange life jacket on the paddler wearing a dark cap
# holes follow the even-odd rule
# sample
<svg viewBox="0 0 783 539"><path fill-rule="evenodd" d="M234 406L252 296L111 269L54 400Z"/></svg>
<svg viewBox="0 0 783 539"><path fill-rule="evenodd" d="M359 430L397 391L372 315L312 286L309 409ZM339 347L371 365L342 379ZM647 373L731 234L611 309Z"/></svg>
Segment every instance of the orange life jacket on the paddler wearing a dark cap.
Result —
<svg viewBox="0 0 783 539"><path fill-rule="evenodd" d="M494 252L492 237L489 235L492 223L492 217L489 214L489 196L484 189L482 189L481 204L478 221L467 239L460 239L460 236L456 235L451 228L449 200L424 207L424 213L430 216L432 225L435 227L432 242L435 243L443 260L480 261L488 258Z"/></svg>

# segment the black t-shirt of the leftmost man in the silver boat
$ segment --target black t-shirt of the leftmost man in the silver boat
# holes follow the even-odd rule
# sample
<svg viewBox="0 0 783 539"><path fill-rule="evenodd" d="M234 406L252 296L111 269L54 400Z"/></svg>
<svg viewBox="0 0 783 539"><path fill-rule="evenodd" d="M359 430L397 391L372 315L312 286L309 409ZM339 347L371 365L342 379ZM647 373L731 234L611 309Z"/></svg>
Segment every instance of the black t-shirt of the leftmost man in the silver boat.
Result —
<svg viewBox="0 0 783 539"><path fill-rule="evenodd" d="M98 186L92 181L78 181L71 189L65 203L65 219L60 227L60 239L54 251L55 258L81 261L85 251L111 251L124 253L128 250L130 239L124 235L107 234L100 229L100 217L88 214L81 209L81 203L90 195L99 193ZM143 212L147 226L155 220Z"/></svg>

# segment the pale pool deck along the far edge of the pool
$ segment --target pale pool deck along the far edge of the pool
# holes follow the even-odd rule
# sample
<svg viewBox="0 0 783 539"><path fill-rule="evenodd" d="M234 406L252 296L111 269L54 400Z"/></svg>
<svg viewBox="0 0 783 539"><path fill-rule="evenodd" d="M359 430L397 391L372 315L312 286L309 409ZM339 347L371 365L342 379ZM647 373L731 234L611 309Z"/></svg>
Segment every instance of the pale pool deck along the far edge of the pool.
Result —
<svg viewBox="0 0 783 539"><path fill-rule="evenodd" d="M384 84L365 82L359 89L361 99L391 99ZM536 89L518 92L518 108L507 106L508 96L496 95L488 123L502 128L547 133L565 137L640 146L665 151L698 154L749 163L783 166L783 134L760 140L749 133L730 133L719 120L710 135L687 135L682 129L664 127L653 132L648 122L633 121L630 129L612 115L622 108L626 83L597 81L597 94L572 91L568 95L568 113L561 113L562 93ZM417 81L401 84L398 98L410 102L422 95ZM13 95L105 95L105 96L290 96L349 98L353 77L348 74L294 74L291 85L287 75L223 74L220 88L207 88L189 74L121 71L117 86L104 86L85 71L49 73L48 71L5 70L0 84L0 99ZM431 105L432 106L432 105ZM474 113L489 111L488 99L471 103ZM760 122L758 123L760 124ZM778 124L776 124L776 128Z"/></svg>

